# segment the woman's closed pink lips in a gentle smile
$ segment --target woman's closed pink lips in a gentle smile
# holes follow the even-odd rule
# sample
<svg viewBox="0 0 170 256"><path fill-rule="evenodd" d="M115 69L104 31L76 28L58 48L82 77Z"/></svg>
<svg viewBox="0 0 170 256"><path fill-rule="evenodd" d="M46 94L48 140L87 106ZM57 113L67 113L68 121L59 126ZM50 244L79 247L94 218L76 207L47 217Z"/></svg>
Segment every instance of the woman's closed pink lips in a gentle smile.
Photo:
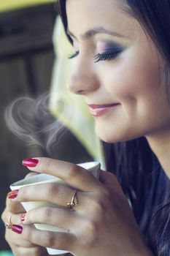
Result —
<svg viewBox="0 0 170 256"><path fill-rule="evenodd" d="M92 116L103 116L113 108L117 107L117 105L120 105L120 104L119 103L104 104L104 105L90 104L88 106L90 108L90 114Z"/></svg>

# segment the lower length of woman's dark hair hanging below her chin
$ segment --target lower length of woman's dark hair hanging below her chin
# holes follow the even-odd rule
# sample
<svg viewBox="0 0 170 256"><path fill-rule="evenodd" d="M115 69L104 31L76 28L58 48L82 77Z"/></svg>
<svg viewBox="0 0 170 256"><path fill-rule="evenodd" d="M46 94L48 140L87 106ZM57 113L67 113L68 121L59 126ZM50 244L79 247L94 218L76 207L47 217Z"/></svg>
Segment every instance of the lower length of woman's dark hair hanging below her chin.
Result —
<svg viewBox="0 0 170 256"><path fill-rule="evenodd" d="M147 140L104 143L104 152L154 255L170 256L170 180Z"/></svg>

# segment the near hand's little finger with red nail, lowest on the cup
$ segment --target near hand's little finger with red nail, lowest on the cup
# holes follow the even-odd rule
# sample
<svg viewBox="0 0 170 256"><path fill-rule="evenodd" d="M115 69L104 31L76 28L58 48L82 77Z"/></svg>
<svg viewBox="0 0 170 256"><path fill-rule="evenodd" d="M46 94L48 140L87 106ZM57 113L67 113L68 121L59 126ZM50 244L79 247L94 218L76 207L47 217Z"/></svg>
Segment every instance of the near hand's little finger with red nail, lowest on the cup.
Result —
<svg viewBox="0 0 170 256"><path fill-rule="evenodd" d="M50 232L38 230L30 226L13 226L13 231L18 233L18 237L30 241L39 246L50 247L54 249L62 249L72 252L72 246L76 242L76 238L69 232Z"/></svg>

